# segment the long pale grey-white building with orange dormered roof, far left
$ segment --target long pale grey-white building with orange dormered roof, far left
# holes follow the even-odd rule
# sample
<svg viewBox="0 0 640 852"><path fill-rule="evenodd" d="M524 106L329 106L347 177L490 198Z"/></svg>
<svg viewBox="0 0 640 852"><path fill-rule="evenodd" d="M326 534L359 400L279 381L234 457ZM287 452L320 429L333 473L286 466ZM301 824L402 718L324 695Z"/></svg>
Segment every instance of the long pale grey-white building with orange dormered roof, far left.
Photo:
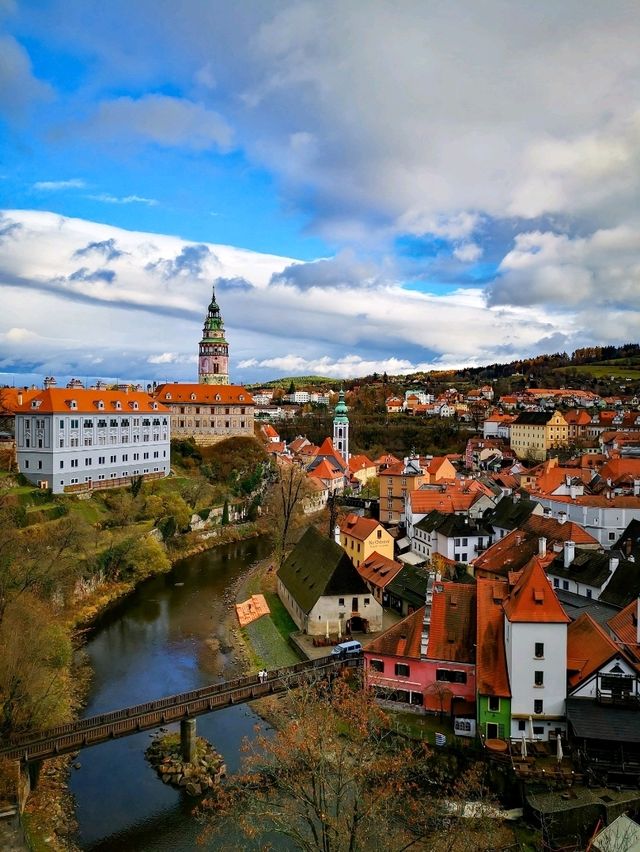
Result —
<svg viewBox="0 0 640 852"><path fill-rule="evenodd" d="M169 473L169 410L149 394L97 388L18 393L16 453L54 494L115 488Z"/></svg>

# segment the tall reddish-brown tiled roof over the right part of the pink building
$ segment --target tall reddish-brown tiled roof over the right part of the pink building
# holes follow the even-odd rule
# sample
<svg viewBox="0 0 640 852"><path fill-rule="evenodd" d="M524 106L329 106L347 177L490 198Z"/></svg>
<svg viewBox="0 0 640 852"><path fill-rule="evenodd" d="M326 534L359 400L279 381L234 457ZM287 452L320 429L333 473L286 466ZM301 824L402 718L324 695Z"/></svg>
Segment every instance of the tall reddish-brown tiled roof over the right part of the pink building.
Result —
<svg viewBox="0 0 640 852"><path fill-rule="evenodd" d="M464 583L435 583L427 658L475 662L476 588Z"/></svg>

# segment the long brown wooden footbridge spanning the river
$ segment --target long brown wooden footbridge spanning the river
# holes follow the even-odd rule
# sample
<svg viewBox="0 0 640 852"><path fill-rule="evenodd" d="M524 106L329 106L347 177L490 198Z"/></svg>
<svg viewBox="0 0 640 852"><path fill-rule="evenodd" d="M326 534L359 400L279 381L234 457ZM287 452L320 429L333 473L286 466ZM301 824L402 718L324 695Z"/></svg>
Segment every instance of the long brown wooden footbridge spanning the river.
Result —
<svg viewBox="0 0 640 852"><path fill-rule="evenodd" d="M222 710L232 704L244 704L255 698L284 692L301 686L310 679L335 674L345 666L357 668L361 665L361 658L336 660L335 657L322 657L267 672L263 679L258 675L249 675L192 692L169 695L146 704L59 725L47 731L26 734L10 742L0 742L0 758L25 763L39 762L48 757L78 751L85 746L159 728L171 722L182 723L184 748L185 739L195 740L195 722L189 723L189 720L195 719L196 716Z"/></svg>

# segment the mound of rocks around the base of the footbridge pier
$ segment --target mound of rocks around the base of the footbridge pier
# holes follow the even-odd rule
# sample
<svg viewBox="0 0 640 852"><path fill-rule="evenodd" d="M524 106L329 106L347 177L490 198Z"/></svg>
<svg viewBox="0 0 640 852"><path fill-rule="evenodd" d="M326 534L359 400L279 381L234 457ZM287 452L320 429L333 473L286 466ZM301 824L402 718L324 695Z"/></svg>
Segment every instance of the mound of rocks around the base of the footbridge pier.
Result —
<svg viewBox="0 0 640 852"><path fill-rule="evenodd" d="M186 763L182 759L180 734L156 737L145 756L163 784L184 789L187 795L194 798L216 787L227 774L221 755L204 737L196 739L193 763Z"/></svg>

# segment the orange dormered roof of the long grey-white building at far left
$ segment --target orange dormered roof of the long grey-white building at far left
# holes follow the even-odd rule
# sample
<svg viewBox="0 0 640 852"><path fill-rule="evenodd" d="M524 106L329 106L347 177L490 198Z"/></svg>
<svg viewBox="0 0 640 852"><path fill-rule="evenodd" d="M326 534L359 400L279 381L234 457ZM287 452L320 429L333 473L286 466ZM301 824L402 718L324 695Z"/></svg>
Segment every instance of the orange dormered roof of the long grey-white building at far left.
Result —
<svg viewBox="0 0 640 852"><path fill-rule="evenodd" d="M72 407L74 401L75 407ZM39 404L34 407L34 403ZM132 411L168 414L169 410L148 393L91 388L49 388L39 391L30 400L16 406L16 412L21 414L96 414L99 411L105 414L113 414L116 411L128 414Z"/></svg>

